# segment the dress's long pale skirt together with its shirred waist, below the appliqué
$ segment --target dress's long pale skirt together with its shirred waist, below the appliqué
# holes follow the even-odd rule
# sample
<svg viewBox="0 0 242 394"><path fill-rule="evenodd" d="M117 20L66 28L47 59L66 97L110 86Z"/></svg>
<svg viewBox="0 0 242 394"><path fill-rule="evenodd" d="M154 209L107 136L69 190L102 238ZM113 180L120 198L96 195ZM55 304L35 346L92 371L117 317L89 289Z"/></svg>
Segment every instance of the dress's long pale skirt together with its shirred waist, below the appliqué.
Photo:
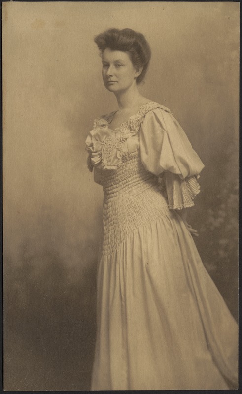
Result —
<svg viewBox="0 0 242 394"><path fill-rule="evenodd" d="M91 389L236 386L237 323L181 217L169 210L137 157L128 161L136 169L133 175L126 177L126 163L124 172L106 171L103 179L104 243Z"/></svg>

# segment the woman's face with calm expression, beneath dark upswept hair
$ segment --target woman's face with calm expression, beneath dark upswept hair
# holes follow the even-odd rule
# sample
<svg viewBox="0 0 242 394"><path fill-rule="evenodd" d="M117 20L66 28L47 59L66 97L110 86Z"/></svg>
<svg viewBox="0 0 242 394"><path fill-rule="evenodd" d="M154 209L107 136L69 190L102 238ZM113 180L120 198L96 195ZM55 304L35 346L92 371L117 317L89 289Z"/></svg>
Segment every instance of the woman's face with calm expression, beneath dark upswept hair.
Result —
<svg viewBox="0 0 242 394"><path fill-rule="evenodd" d="M110 92L127 90L136 84L136 77L141 71L137 70L130 59L128 52L104 49L102 54L104 86Z"/></svg>

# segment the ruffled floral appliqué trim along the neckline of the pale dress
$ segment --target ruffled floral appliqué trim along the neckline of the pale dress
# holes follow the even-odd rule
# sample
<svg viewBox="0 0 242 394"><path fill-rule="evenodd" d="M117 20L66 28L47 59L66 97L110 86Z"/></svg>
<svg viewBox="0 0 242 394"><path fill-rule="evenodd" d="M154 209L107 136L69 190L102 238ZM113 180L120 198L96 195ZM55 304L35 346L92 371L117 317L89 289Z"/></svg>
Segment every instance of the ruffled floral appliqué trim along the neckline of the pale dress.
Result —
<svg viewBox="0 0 242 394"><path fill-rule="evenodd" d="M89 132L86 139L89 170L92 172L93 167L98 164L101 164L103 169L116 169L117 165L122 163L125 141L138 133L145 114L155 108L170 112L165 106L150 101L114 130L109 128L109 124L116 111L96 119L93 130Z"/></svg>

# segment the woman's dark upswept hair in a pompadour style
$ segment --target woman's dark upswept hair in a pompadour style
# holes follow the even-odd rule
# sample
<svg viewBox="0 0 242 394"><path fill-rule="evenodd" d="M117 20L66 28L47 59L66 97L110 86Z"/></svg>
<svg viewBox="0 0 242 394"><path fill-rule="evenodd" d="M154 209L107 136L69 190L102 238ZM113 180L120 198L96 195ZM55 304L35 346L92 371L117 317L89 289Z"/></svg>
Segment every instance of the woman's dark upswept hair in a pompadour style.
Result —
<svg viewBox="0 0 242 394"><path fill-rule="evenodd" d="M143 34L132 29L108 29L95 36L94 41L101 53L104 49L112 51L129 52L134 67L143 67L141 74L136 78L137 83L142 82L151 58L151 50Z"/></svg>

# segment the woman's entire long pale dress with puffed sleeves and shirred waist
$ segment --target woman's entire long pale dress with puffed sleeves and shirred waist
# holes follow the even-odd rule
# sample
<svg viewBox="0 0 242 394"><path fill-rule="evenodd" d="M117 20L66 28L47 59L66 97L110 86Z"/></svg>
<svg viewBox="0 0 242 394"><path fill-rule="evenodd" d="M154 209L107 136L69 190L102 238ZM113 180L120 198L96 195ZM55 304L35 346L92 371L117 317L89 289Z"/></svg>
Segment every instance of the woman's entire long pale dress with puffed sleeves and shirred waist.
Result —
<svg viewBox="0 0 242 394"><path fill-rule="evenodd" d="M204 165L166 107L115 130L113 115L86 139L104 188L91 389L236 387L237 323L175 211L194 205Z"/></svg>

